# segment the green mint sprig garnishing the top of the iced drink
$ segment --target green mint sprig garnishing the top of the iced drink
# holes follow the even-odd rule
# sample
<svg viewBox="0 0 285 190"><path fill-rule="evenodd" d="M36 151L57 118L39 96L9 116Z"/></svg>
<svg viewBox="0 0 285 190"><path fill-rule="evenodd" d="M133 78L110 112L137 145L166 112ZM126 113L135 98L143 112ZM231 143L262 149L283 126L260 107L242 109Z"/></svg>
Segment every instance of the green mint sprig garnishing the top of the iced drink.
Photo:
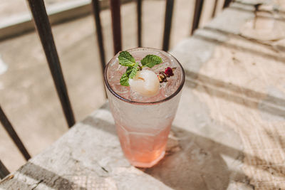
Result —
<svg viewBox="0 0 285 190"><path fill-rule="evenodd" d="M155 65L162 63L162 58L155 55L147 55L145 58L140 60L140 63L135 63L135 58L133 58L128 51L120 52L119 56L119 64L125 67L128 67L125 73L120 78L120 85L129 86L129 79L134 78L137 75L138 70L142 70L144 67L152 68Z"/></svg>

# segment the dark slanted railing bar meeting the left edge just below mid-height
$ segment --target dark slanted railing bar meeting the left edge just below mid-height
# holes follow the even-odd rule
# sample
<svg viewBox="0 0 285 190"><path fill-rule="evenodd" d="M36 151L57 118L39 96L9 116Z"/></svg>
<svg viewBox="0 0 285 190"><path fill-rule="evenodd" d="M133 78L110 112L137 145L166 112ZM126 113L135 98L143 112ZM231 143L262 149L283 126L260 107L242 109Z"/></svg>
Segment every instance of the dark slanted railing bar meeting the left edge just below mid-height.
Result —
<svg viewBox="0 0 285 190"><path fill-rule="evenodd" d="M28 154L26 147L24 146L23 142L21 142L21 139L19 138L18 134L14 130L13 126L11 125L11 122L6 117L1 106L0 106L0 122L3 125L4 129L6 130L6 132L11 137L11 139L13 139L19 151L21 152L21 154L23 154L24 158L26 160L30 159L31 158L30 154Z"/></svg>

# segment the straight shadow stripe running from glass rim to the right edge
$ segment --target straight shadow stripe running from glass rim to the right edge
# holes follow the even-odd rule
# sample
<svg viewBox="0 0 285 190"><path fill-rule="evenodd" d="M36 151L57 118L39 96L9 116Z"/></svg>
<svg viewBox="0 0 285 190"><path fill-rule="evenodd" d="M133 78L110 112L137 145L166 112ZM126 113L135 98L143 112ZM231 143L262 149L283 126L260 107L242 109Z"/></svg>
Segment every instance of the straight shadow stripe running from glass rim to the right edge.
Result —
<svg viewBox="0 0 285 190"><path fill-rule="evenodd" d="M185 70L185 85L202 93L285 118L285 100ZM201 88L198 88L201 87ZM266 98L265 98L266 97ZM260 106L262 105L262 106Z"/></svg>

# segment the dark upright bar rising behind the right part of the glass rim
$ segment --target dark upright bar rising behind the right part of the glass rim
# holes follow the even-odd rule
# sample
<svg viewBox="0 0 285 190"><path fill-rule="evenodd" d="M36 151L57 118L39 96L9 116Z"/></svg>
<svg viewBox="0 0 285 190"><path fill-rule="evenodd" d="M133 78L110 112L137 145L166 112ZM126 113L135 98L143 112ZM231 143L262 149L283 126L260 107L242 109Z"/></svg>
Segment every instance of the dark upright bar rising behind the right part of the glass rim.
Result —
<svg viewBox="0 0 285 190"><path fill-rule="evenodd" d="M172 23L172 14L173 14L173 5L174 0L166 0L165 7L165 31L163 34L163 44L162 50L168 51L170 44L170 32L171 32L171 23Z"/></svg>

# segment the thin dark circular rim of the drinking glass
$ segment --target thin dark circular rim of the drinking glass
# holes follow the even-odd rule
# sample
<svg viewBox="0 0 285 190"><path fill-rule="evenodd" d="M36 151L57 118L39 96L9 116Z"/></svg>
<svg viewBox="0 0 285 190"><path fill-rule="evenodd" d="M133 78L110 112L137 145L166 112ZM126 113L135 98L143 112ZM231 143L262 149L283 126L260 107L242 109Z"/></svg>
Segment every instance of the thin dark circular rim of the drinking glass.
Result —
<svg viewBox="0 0 285 190"><path fill-rule="evenodd" d="M142 47L139 47L139 48L130 48L130 49L126 50L126 51L133 51L133 50L135 50L135 49L147 49L147 50L153 50L153 51L162 51L162 50L157 49L157 48L142 48ZM121 52L121 51L120 51L120 52ZM118 52L118 53L120 53L120 52ZM179 87L177 88L177 90L175 90L174 93L172 93L172 94L171 94L170 96L168 96L168 97L165 97L165 98L162 99L162 100L157 100L157 101L155 101L155 102L137 102L137 101L133 101L133 100L128 100L128 99L126 99L125 97L122 97L122 96L118 95L117 93L115 93L115 91L110 87L110 84L109 84L109 82L108 82L107 71L108 71L108 66L110 65L111 60L113 60L113 58L114 58L115 56L117 56L118 53L108 62L107 65L105 65L105 70L104 70L104 82L105 82L106 87L107 87L108 90L110 91L110 93L112 93L112 94L113 94L115 97L117 97L118 99L123 100L124 102L128 102L128 103L131 103L131 104L138 104L138 105L154 105L154 104L158 104L158 103L161 103L161 102L166 102L167 100L172 99L172 97L175 97L175 95L177 95L178 93L180 93L180 91L182 90L182 87L183 87L183 85L184 85L184 83L185 83L185 71L184 71L184 69L182 68L181 63L177 60L177 58L175 58L174 56L172 56L170 53L168 53L168 52L166 52L166 51L162 51L162 52L163 52L163 53L166 53L167 56L170 56L170 57L174 58L175 61L176 61L176 62L178 63L178 65L180 66L181 70L182 70L182 81L181 81Z"/></svg>

